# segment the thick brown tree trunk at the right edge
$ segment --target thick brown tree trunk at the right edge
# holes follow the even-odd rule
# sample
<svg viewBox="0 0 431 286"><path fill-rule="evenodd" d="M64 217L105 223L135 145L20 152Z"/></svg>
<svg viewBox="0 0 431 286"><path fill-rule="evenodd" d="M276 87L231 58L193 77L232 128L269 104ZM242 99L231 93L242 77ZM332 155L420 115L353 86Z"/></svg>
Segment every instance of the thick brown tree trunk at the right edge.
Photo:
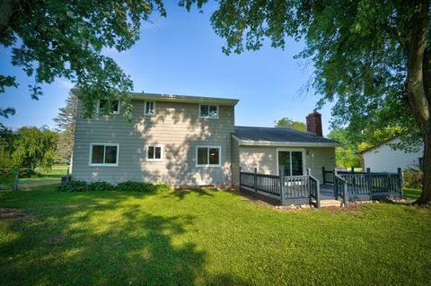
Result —
<svg viewBox="0 0 431 286"><path fill-rule="evenodd" d="M431 202L431 49L427 48L428 0L418 0L406 41L408 59L407 106L416 119L424 141L424 180L418 204Z"/></svg>

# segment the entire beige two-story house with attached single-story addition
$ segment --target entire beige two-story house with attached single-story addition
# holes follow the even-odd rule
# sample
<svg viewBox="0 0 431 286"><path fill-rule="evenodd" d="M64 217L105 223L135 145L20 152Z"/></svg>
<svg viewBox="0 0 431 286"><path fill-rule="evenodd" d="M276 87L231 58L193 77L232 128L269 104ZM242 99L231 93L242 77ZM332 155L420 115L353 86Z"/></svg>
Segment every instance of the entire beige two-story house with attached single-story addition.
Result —
<svg viewBox="0 0 431 286"><path fill-rule="evenodd" d="M307 117L303 133L288 128L234 126L238 100L133 93L133 122L112 102L111 117L79 117L72 175L75 179L119 183L163 181L172 186L237 186L244 170L321 179L335 167L335 146L321 136L321 116ZM107 104L100 102L100 107Z"/></svg>

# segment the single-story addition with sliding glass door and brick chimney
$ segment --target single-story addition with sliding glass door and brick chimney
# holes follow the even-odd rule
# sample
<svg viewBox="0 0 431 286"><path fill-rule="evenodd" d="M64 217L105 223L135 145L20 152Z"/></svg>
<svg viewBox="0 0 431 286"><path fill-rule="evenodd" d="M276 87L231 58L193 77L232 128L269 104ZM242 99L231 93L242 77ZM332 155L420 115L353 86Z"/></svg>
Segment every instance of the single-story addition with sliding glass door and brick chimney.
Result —
<svg viewBox="0 0 431 286"><path fill-rule="evenodd" d="M313 113L312 117L320 114ZM321 134L290 128L235 126L232 138L233 186L239 186L240 167L245 172L256 169L259 174L268 175L279 175L282 169L285 176L303 176L311 169L312 176L321 182L323 167L336 168L335 147L340 143Z"/></svg>

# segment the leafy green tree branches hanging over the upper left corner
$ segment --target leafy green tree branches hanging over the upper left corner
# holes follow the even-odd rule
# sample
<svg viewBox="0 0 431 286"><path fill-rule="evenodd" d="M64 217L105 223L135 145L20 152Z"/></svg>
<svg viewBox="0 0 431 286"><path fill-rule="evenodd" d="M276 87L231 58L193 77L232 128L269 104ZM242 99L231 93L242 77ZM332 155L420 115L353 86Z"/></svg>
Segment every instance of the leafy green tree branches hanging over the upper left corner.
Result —
<svg viewBox="0 0 431 286"><path fill-rule="evenodd" d="M42 83L64 77L79 89L84 117L92 116L100 99L121 100L129 117L133 82L102 50L132 47L141 23L154 11L166 15L162 0L5 0L0 2L0 45L12 48L13 65L36 78L29 86L32 99L39 99ZM2 71L0 93L19 83ZM14 112L0 107L0 116Z"/></svg>

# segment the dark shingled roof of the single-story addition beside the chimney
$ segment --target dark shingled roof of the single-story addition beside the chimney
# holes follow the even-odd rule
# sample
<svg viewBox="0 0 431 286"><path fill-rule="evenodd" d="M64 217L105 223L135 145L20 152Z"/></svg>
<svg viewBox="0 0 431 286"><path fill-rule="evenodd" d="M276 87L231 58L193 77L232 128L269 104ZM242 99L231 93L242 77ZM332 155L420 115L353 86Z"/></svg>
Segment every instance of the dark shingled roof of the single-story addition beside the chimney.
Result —
<svg viewBox="0 0 431 286"><path fill-rule="evenodd" d="M337 141L290 128L235 126L233 138L240 145L335 147Z"/></svg>

